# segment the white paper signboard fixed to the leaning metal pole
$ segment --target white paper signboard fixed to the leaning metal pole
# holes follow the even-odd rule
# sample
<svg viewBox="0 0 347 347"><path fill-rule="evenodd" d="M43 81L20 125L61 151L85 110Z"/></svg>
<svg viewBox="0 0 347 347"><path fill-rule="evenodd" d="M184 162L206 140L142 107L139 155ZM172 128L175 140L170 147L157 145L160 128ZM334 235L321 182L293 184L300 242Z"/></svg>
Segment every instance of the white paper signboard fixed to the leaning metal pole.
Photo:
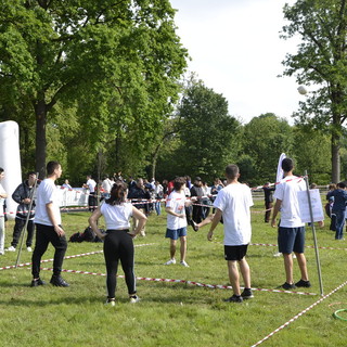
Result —
<svg viewBox="0 0 347 347"><path fill-rule="evenodd" d="M311 222L307 191L300 191L297 194L298 194L297 196L298 196L299 208L300 208L300 218L305 223ZM310 198L311 198L313 221L324 220L324 213L323 213L322 201L321 201L321 195L319 193L319 189L310 190Z"/></svg>

